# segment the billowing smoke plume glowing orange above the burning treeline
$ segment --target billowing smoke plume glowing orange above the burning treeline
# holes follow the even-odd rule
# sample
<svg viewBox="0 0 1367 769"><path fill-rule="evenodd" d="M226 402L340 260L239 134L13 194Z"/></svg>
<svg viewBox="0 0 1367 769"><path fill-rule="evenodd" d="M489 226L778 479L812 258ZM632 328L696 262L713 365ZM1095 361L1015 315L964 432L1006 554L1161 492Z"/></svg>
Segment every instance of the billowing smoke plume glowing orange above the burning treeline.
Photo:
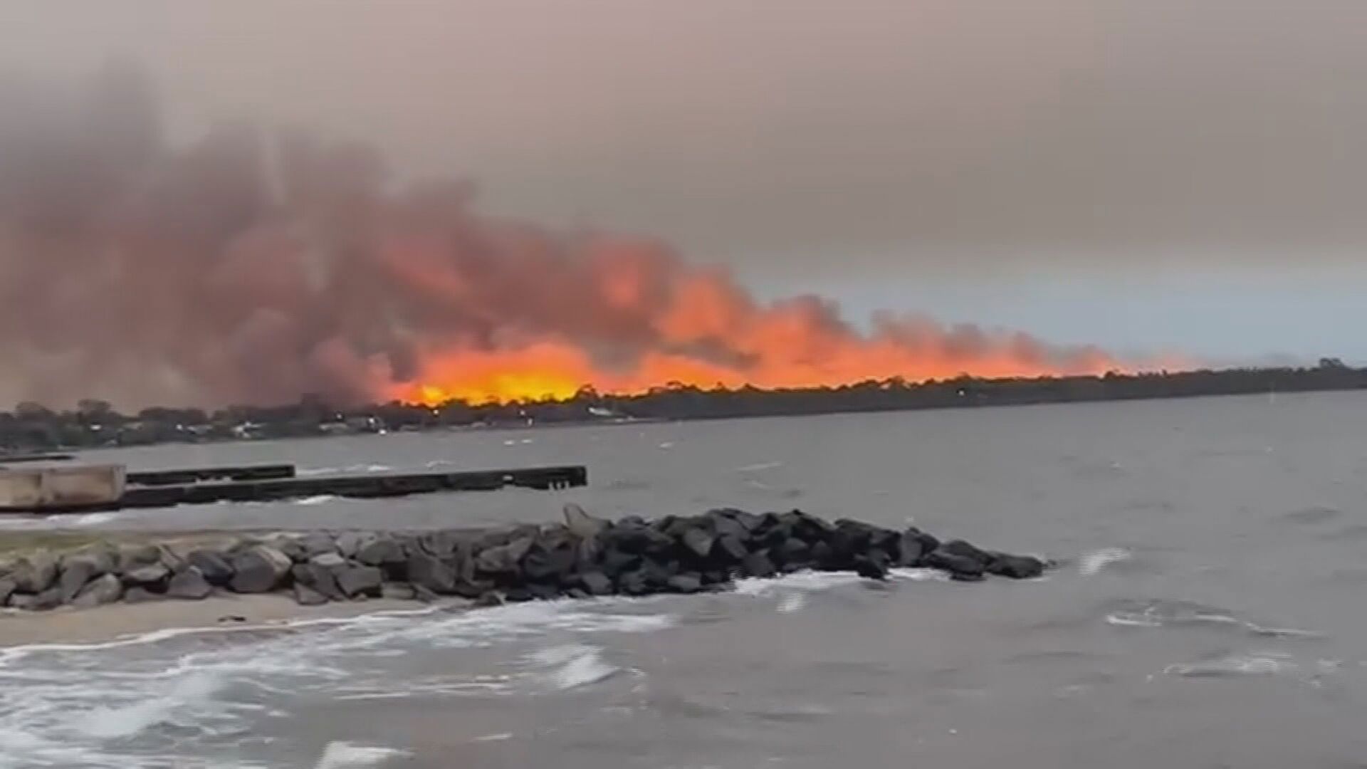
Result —
<svg viewBox="0 0 1367 769"><path fill-rule="evenodd" d="M658 242L480 215L366 146L223 126L163 137L112 66L0 78L0 402L120 406L570 395L1098 372L1096 349L760 302Z"/></svg>

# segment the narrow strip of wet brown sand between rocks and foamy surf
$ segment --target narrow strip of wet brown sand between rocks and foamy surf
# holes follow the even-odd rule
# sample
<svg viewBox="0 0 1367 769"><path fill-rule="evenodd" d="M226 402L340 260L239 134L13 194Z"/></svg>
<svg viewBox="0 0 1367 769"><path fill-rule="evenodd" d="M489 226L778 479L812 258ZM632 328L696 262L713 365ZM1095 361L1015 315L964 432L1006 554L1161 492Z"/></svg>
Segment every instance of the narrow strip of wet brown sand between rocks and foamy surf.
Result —
<svg viewBox="0 0 1367 769"><path fill-rule="evenodd" d="M204 601L112 603L94 609L0 610L0 647L34 643L103 643L163 629L260 628L299 620L355 617L375 612L422 612L427 608L414 601L383 598L299 606L288 595L223 595Z"/></svg>

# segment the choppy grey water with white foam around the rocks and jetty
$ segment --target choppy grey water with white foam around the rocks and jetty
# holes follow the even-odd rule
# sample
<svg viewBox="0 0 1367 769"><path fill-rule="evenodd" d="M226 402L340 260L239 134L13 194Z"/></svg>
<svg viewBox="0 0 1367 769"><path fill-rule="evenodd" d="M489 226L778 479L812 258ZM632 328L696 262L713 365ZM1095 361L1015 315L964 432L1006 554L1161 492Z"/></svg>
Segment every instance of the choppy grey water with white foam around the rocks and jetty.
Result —
<svg viewBox="0 0 1367 769"><path fill-rule="evenodd" d="M87 517L463 525L800 506L1065 560L0 653L0 768L1363 766L1367 395L150 447L134 467L584 462L592 486ZM52 525L34 521L8 525Z"/></svg>

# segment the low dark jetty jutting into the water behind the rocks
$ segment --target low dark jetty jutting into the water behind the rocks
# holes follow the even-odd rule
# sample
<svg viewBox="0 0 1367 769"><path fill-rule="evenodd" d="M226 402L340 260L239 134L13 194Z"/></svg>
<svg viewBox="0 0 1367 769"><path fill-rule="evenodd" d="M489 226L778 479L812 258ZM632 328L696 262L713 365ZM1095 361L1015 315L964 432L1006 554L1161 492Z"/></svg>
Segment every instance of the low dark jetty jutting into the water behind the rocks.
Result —
<svg viewBox="0 0 1367 769"><path fill-rule="evenodd" d="M122 467L111 467L118 468L119 473L122 473ZM288 468L287 476L279 476L284 472L283 468ZM89 469L103 469L105 473L111 472L109 468ZM257 472L260 475L252 478L252 472ZM276 478L269 478L272 473L275 473ZM138 483L135 479L139 476L144 480L150 479L152 483ZM221 480L224 478L228 480ZM189 482L175 482L168 479ZM208 482L201 482L200 479L205 479ZM0 482L3 480L3 473L0 473ZM150 473L133 472L127 473L127 483L123 483L123 480L124 479L120 475L118 494L109 494L103 499L93 499L90 495L79 498L70 495L48 495L41 499L33 497L23 501L7 501L3 495L0 495L0 510L10 513L97 512L122 510L130 508L206 505L211 502L262 502L298 499L305 497L373 499L381 497L405 497L409 494L435 494L444 491L495 491L510 486L551 490L586 486L588 469L584 465L555 465L473 472L366 473L295 478L293 465L254 465L249 468L191 468ZM0 483L0 486L3 486L3 483ZM109 486L104 486L101 488L112 491L112 487Z"/></svg>

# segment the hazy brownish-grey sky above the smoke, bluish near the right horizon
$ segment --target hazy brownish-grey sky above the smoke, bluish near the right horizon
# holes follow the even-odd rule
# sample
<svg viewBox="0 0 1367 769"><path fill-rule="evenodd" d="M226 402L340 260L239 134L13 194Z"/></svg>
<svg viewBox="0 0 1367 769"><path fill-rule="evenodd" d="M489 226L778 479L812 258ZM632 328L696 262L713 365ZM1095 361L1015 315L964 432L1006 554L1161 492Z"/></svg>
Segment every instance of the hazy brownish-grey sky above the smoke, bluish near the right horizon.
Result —
<svg viewBox="0 0 1367 769"><path fill-rule="evenodd" d="M760 296L1213 361L1367 361L1367 4L0 0L0 70L224 120Z"/></svg>

